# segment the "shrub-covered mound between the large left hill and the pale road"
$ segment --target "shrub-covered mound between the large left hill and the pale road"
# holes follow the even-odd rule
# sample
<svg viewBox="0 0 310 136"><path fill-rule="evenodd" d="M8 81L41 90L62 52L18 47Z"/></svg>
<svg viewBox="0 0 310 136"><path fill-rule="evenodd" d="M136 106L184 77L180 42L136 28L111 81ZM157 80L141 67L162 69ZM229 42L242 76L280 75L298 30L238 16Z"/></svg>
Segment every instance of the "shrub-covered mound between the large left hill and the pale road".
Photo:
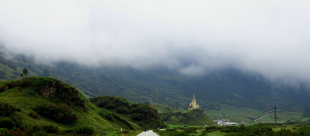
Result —
<svg viewBox="0 0 310 136"><path fill-rule="evenodd" d="M150 105L132 103L117 96L99 96L90 98L90 102L100 108L109 110L128 121L148 129L169 128L159 117L157 110Z"/></svg>

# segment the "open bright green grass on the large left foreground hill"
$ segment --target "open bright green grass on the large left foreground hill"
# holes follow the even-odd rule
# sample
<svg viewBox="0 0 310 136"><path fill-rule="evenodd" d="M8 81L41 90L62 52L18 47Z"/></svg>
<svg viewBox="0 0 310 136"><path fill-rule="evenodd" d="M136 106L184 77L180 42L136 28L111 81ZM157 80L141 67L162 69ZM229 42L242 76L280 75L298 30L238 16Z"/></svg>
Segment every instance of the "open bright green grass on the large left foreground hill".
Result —
<svg viewBox="0 0 310 136"><path fill-rule="evenodd" d="M5 81L2 81L0 84L3 85ZM22 118L24 124L26 125L42 125L42 124L53 124L60 127L61 130L65 128L75 127L78 125L90 125L95 127L96 131L105 131L105 132L116 132L120 128L127 129L123 124L117 124L114 121L108 121L98 115L100 108L97 108L92 103L86 101L85 106L87 108L86 112L82 111L79 107L71 105L73 112L78 115L78 121L75 121L70 124L62 124L56 121L53 121L49 118L39 116L39 119L32 118L28 116L28 113L34 112L31 107L34 107L37 104L41 103L52 103L49 99L42 96L24 96L23 92L28 91L27 87L20 91L18 87L12 89L7 89L3 92L0 92L0 102L9 103L15 107L21 108L20 112L17 112L18 116ZM80 95L80 97L84 97ZM83 99L86 100L84 97Z"/></svg>

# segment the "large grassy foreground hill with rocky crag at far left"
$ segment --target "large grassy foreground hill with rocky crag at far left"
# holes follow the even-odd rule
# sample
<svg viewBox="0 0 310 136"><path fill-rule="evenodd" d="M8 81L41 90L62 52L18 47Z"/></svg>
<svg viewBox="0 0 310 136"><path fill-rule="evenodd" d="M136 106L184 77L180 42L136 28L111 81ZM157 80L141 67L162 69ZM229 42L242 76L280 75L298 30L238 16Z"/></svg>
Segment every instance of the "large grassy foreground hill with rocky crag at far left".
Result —
<svg viewBox="0 0 310 136"><path fill-rule="evenodd" d="M0 126L6 124L3 121L7 120L7 116L12 116L13 118L8 120L13 120L13 126L22 130L35 125L57 126L62 133L70 132L70 128L85 125L93 127L97 132L115 133L120 128L141 129L114 113L97 108L74 87L50 77L1 81L0 103L0 111L3 110L4 115L7 114L0 114ZM22 125L18 125L16 121L14 125L15 117Z"/></svg>

